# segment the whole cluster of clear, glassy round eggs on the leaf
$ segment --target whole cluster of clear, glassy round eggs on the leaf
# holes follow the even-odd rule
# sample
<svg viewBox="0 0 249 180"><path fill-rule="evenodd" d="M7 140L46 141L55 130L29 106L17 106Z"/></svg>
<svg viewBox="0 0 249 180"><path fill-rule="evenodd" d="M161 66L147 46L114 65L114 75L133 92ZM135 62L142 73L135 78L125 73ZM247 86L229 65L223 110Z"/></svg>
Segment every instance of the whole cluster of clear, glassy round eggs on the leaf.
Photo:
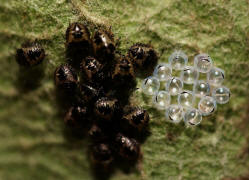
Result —
<svg viewBox="0 0 249 180"><path fill-rule="evenodd" d="M196 126L201 123L203 116L215 112L217 104L229 101L230 90L222 85L224 71L213 66L209 55L195 56L194 66L187 63L185 53L174 52L168 63L157 65L153 76L144 79L141 89L152 97L157 109L165 111L168 121L179 123L184 120L187 126ZM180 76L173 76L173 71L179 71ZM203 76L204 79L201 78ZM187 88L189 86L190 90ZM172 103L174 97L177 103Z"/></svg>

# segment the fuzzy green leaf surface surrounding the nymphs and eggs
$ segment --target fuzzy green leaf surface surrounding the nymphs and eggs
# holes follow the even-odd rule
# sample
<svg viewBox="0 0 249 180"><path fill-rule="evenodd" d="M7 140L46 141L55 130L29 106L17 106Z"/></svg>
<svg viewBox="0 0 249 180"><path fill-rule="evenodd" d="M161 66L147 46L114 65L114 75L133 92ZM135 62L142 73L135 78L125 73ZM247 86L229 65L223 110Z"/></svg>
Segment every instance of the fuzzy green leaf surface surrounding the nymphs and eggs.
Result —
<svg viewBox="0 0 249 180"><path fill-rule="evenodd" d="M160 62L175 49L186 52L190 63L207 52L225 70L232 92L231 101L200 126L185 128L167 123L136 91L133 101L149 110L152 134L142 145L138 170L117 170L110 179L219 180L248 174L248 17L248 0L0 0L0 179L93 179L86 140L65 138L53 84L56 66L66 61L65 30L76 20L91 28L112 26L123 53L135 42L150 42ZM16 48L35 39L47 54L41 81L32 78L36 69L27 75L15 61ZM27 90L31 80L39 85Z"/></svg>

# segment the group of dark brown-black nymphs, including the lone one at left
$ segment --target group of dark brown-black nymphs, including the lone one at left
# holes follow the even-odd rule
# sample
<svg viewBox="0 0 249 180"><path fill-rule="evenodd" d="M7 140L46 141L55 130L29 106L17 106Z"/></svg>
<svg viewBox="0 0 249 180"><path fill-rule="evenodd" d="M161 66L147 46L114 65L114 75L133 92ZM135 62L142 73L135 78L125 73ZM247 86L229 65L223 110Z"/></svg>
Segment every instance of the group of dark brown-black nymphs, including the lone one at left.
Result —
<svg viewBox="0 0 249 180"><path fill-rule="evenodd" d="M156 51L151 45L137 43L123 55L111 29L91 33L78 22L67 28L65 45L67 62L56 68L54 81L67 102L63 110L66 127L86 132L90 159L96 166L137 162L150 118L146 110L131 105L129 96L136 89L136 75L156 65ZM38 64L43 58L29 49L31 52L27 47L18 50L20 64Z"/></svg>

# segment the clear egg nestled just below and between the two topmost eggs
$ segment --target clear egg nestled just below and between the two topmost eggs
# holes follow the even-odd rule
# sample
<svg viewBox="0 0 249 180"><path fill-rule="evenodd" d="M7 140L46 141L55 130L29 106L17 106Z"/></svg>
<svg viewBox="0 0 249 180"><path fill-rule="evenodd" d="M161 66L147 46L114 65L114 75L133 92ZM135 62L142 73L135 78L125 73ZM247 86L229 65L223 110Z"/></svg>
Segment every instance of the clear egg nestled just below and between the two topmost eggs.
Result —
<svg viewBox="0 0 249 180"><path fill-rule="evenodd" d="M199 72L193 66L186 66L181 72L181 79L186 84L194 84L199 78Z"/></svg>

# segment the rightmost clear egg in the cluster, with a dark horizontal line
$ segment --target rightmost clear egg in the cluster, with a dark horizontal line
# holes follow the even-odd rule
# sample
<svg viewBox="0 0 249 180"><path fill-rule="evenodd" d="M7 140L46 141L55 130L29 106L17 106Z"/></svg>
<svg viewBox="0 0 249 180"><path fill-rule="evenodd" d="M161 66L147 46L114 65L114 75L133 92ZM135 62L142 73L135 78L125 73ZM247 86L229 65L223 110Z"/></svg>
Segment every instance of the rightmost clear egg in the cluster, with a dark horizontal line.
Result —
<svg viewBox="0 0 249 180"><path fill-rule="evenodd" d="M226 104L230 99L230 90L225 86L218 87L213 90L212 96L218 104Z"/></svg>

